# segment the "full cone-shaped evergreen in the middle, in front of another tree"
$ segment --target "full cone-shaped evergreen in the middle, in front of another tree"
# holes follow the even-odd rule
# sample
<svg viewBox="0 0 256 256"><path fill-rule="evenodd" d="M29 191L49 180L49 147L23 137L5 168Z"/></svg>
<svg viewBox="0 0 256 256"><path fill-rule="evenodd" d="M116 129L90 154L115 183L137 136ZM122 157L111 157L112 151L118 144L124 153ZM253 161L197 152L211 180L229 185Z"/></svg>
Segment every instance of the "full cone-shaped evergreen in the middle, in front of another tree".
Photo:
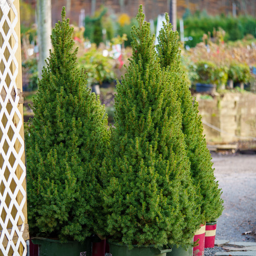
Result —
<svg viewBox="0 0 256 256"><path fill-rule="evenodd" d="M169 73L160 68L142 6L137 21L138 28L131 31L130 65L117 84L115 128L102 168L107 230L113 241L124 244L186 247L201 219L180 104L169 86Z"/></svg>

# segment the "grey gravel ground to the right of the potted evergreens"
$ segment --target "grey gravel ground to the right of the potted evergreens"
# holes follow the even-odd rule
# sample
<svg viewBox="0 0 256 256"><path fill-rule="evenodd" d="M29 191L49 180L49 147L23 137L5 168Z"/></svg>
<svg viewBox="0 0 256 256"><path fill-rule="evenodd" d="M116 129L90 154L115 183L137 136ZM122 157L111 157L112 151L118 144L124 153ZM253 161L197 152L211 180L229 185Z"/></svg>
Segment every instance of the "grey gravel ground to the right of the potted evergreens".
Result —
<svg viewBox="0 0 256 256"><path fill-rule="evenodd" d="M216 239L256 241L256 155L212 153L212 162L225 208Z"/></svg>

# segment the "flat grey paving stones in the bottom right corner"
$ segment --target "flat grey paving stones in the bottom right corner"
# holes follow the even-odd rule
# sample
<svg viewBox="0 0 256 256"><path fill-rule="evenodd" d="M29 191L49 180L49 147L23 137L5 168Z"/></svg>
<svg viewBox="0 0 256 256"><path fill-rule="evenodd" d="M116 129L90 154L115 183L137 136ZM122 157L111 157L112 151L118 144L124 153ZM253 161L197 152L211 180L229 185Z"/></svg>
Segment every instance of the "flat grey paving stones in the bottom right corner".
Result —
<svg viewBox="0 0 256 256"><path fill-rule="evenodd" d="M216 256L256 256L255 242L230 242L228 240L215 240L215 246L220 246L225 250L225 252L216 252Z"/></svg>

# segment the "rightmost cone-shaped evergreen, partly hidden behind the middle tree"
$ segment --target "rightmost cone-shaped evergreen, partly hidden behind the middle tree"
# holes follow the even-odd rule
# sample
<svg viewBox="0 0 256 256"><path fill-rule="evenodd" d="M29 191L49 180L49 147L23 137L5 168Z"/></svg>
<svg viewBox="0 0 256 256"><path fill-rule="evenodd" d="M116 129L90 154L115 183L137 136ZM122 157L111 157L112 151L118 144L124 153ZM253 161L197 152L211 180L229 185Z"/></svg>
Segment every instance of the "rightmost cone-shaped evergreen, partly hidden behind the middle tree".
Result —
<svg viewBox="0 0 256 256"><path fill-rule="evenodd" d="M180 70L180 49L178 33L172 30L169 17L163 24L157 45L157 52L162 68L168 68L169 81L181 103L182 131L185 135L188 157L191 162L192 180L201 195L198 204L206 222L215 221L222 213L223 200L221 189L214 177L211 155L203 135L201 116L198 115L198 102L192 98L189 86Z"/></svg>

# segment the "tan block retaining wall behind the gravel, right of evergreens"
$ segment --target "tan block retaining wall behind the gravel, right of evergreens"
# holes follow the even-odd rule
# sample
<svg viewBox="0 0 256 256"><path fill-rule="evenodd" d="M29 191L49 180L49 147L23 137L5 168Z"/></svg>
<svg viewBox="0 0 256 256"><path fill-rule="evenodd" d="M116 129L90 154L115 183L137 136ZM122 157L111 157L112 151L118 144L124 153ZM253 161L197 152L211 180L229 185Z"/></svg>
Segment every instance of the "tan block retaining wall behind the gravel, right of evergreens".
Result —
<svg viewBox="0 0 256 256"><path fill-rule="evenodd" d="M256 138L256 95L225 93L213 99L196 94L207 142L232 143Z"/></svg>

